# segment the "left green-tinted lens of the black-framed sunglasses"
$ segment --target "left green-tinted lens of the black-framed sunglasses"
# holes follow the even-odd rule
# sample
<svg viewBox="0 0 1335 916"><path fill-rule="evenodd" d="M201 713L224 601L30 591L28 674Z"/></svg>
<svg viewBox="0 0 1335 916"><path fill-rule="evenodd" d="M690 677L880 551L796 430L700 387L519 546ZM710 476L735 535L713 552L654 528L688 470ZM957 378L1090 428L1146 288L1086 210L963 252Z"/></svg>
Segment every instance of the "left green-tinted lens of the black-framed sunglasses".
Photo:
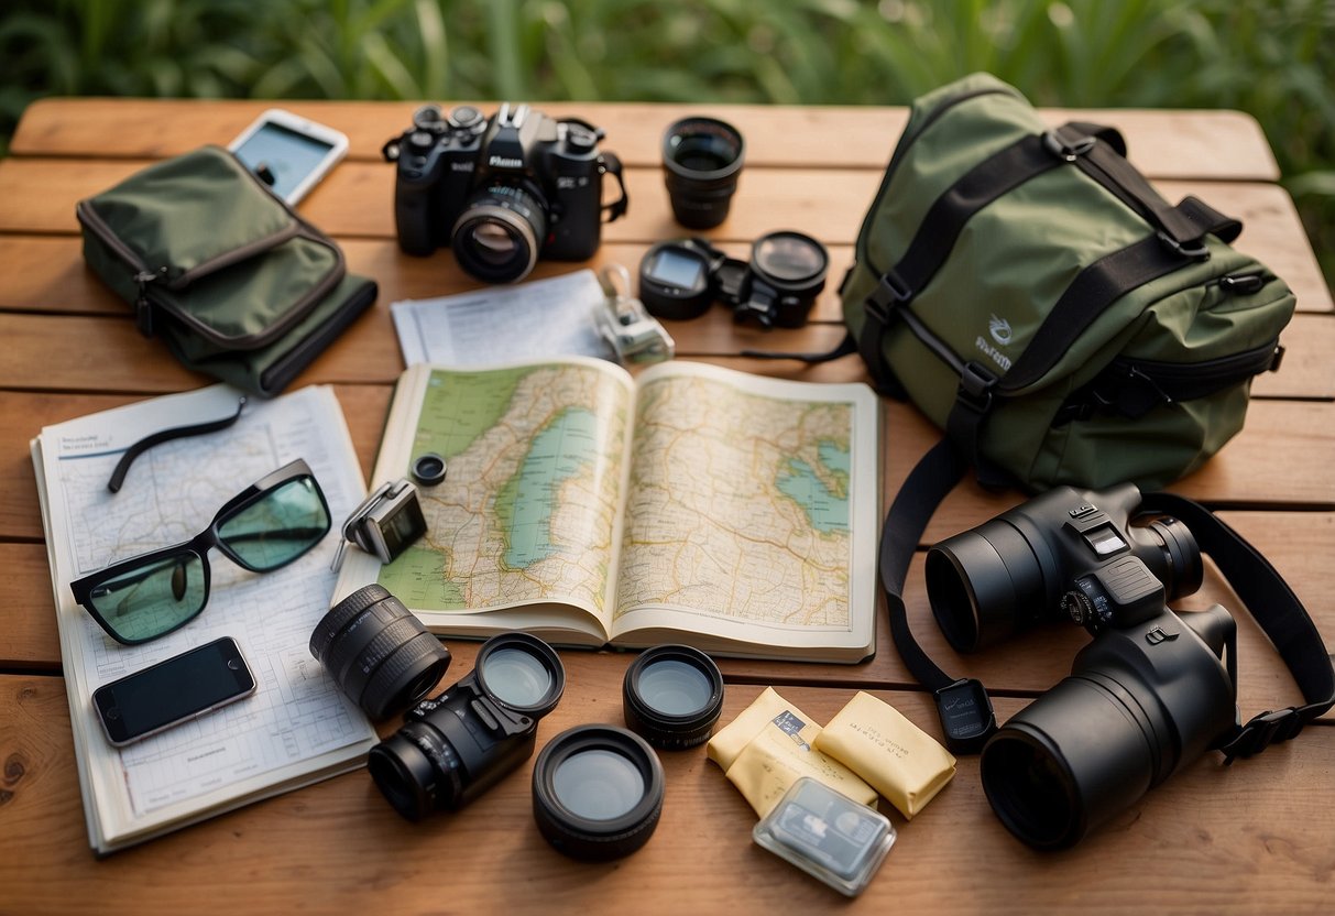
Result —
<svg viewBox="0 0 1335 916"><path fill-rule="evenodd" d="M204 609L204 561L194 553L160 557L99 582L89 600L125 642L172 630Z"/></svg>

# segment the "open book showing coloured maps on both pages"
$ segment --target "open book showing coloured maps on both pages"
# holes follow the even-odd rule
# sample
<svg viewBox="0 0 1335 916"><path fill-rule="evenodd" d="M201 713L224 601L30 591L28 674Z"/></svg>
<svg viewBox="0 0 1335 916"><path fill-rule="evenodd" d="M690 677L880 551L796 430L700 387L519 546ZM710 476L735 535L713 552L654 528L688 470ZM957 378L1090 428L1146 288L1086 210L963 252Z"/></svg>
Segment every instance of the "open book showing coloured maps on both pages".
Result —
<svg viewBox="0 0 1335 916"><path fill-rule="evenodd" d="M427 534L348 553L435 633L860 661L874 645L877 414L865 385L672 362L410 367L374 482L434 451Z"/></svg>

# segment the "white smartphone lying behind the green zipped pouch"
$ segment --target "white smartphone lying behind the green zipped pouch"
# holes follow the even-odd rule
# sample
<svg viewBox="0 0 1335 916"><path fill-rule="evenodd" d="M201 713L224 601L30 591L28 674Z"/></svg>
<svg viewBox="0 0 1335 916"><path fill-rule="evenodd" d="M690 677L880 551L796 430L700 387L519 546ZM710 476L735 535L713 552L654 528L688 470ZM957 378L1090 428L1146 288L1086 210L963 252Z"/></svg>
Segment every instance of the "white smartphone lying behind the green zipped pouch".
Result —
<svg viewBox="0 0 1335 916"><path fill-rule="evenodd" d="M227 148L274 194L295 206L347 154L347 136L290 111L270 108Z"/></svg>

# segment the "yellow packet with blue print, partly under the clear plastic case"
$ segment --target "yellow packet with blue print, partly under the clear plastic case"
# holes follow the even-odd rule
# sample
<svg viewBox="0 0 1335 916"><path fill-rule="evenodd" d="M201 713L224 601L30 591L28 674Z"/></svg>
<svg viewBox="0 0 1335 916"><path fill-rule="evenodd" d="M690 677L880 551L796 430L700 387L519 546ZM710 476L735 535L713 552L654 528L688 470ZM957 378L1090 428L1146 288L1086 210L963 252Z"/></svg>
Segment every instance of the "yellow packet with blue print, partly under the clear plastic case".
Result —
<svg viewBox="0 0 1335 916"><path fill-rule="evenodd" d="M806 713L768 688L728 728L714 734L708 753L725 768L729 781L761 817L804 776L854 801L874 805L876 789L812 746L820 733L820 725Z"/></svg>

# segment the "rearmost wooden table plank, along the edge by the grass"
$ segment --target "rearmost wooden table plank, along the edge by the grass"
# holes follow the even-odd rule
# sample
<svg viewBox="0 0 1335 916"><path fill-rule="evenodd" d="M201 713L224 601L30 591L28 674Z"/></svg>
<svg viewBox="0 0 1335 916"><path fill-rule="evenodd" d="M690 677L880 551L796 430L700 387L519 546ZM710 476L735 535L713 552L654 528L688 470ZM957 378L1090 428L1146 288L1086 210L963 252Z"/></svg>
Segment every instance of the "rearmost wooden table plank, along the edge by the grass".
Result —
<svg viewBox="0 0 1335 916"><path fill-rule="evenodd" d="M226 146L264 101L174 99L41 99L24 112L11 151L23 156L170 156L202 143ZM380 162L380 147L409 127L418 103L284 101L290 111L348 135L351 160ZM458 101L441 101L449 109ZM474 101L490 115L494 101ZM627 166L659 166L669 124L692 115L722 118L746 140L749 166L881 170L908 120L905 108L812 105L776 120L766 105L535 103L553 118L582 118L607 131L606 144ZM1151 178L1272 182L1279 178L1266 135L1239 111L1047 109L1049 124L1107 123L1127 139L1132 162ZM1228 150L1227 156L1218 155Z"/></svg>

